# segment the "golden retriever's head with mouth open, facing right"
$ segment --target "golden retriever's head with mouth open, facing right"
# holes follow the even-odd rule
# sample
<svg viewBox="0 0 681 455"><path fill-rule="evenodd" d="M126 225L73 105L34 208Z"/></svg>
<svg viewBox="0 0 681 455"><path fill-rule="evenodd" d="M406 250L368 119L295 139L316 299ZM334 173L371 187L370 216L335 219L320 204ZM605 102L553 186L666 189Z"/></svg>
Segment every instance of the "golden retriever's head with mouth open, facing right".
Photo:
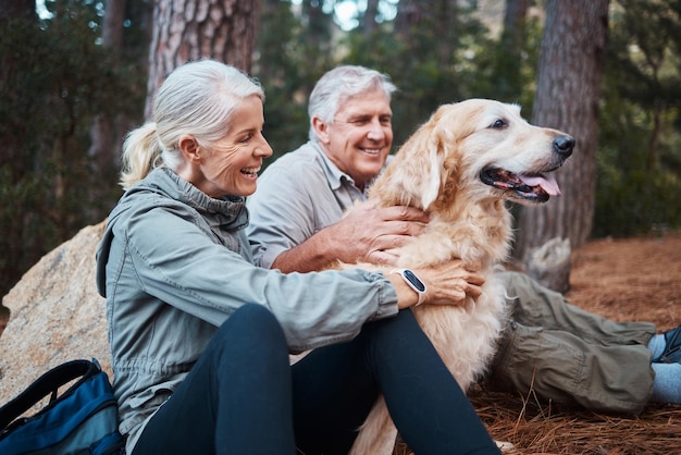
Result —
<svg viewBox="0 0 681 455"><path fill-rule="evenodd" d="M445 104L407 140L388 168L393 175L386 177L399 182L400 188L385 189L399 194L393 202L424 210L459 196L545 202L560 194L550 172L573 147L572 136L530 125L515 104L485 99ZM398 165L400 161L407 162Z"/></svg>

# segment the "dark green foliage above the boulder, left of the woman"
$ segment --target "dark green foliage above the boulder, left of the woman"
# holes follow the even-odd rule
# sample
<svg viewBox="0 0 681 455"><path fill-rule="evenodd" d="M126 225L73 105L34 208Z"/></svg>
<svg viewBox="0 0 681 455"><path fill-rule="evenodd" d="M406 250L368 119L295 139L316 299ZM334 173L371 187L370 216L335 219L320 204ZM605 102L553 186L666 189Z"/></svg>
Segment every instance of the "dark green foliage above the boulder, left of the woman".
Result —
<svg viewBox="0 0 681 455"><path fill-rule="evenodd" d="M88 198L90 185L107 182L90 172L92 118L141 106L129 70L97 44L96 5L48 7L50 20L9 21L0 34L2 295L42 255L106 217L114 200Z"/></svg>

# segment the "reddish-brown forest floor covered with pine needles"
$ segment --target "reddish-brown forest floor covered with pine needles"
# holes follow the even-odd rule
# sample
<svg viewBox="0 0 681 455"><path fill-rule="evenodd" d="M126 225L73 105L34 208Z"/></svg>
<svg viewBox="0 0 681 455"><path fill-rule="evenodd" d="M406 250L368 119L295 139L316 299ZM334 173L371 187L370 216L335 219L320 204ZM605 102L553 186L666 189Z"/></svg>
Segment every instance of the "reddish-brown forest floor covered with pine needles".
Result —
<svg viewBox="0 0 681 455"><path fill-rule="evenodd" d="M681 233L593 241L572 253L568 299L616 321L681 323ZM681 453L681 406L651 404L637 417L559 409L534 396L473 390L493 438L512 454L668 455ZM401 452L400 452L401 450ZM406 446L395 454L408 454Z"/></svg>

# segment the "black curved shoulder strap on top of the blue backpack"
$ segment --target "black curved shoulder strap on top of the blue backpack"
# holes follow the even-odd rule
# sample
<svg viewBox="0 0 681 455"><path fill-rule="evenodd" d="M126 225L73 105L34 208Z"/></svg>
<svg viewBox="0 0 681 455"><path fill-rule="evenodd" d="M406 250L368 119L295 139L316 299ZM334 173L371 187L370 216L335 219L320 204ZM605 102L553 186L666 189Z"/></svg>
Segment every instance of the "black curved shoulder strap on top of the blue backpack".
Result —
<svg viewBox="0 0 681 455"><path fill-rule="evenodd" d="M26 390L18 394L11 402L0 407L0 433L12 423L16 418L22 416L35 404L50 395L50 404L58 397L59 388L67 384L76 378L81 378L74 383L62 396L72 393L78 385L99 373L101 367L97 359L90 360L71 360L59 365L36 381L34 381ZM49 408L49 405L47 406Z"/></svg>

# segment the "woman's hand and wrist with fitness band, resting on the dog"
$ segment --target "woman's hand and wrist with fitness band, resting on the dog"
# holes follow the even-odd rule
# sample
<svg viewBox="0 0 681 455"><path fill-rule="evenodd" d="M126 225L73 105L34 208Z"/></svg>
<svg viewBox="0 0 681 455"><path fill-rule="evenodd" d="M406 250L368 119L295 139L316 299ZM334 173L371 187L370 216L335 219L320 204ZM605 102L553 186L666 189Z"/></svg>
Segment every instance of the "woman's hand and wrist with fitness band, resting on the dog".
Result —
<svg viewBox="0 0 681 455"><path fill-rule="evenodd" d="M476 299L482 294L485 278L479 273L480 266L463 265L460 259L442 262L422 269L412 269L425 284L424 305L463 305L467 297ZM419 302L419 295L404 279L388 273L386 278L397 290L397 305L408 308Z"/></svg>

